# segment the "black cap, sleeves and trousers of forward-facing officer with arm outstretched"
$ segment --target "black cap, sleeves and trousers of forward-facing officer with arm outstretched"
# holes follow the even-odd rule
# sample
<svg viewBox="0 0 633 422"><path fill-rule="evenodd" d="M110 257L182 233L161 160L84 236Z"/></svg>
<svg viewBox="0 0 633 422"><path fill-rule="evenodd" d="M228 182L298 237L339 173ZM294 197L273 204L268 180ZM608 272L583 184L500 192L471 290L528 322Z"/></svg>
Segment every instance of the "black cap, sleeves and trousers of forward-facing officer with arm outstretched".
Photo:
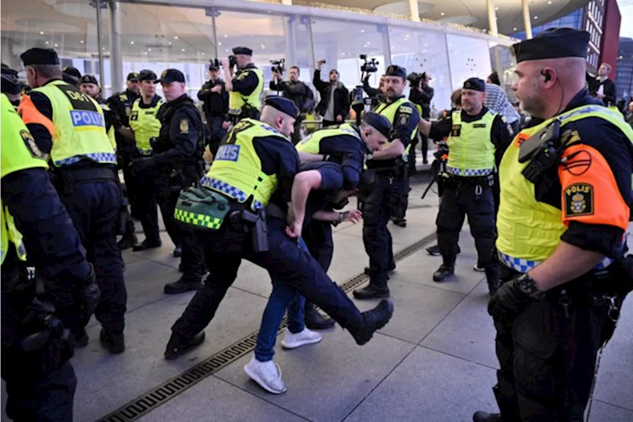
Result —
<svg viewBox="0 0 633 422"><path fill-rule="evenodd" d="M468 87L468 88L467 88ZM486 84L478 78L470 78L464 84L465 89L486 90ZM471 123L480 120L488 113L483 107L479 114L468 115L461 111L461 121ZM453 130L453 118L446 118L431 125L429 137L448 137ZM492 121L490 142L495 146L495 163L498 168L503 152L512 140L512 130L501 116L494 116ZM449 146L449 156L450 156ZM477 266L484 268L486 278L493 294L499 287L499 268L494 256L494 198L492 195L493 175L482 177L465 177L451 175L444 180L444 192L437 213L437 244L444 262L434 273L433 280L441 282L454 273L455 260L458 254L461 227L468 214L470 232L475 239L475 247L479 261Z"/></svg>

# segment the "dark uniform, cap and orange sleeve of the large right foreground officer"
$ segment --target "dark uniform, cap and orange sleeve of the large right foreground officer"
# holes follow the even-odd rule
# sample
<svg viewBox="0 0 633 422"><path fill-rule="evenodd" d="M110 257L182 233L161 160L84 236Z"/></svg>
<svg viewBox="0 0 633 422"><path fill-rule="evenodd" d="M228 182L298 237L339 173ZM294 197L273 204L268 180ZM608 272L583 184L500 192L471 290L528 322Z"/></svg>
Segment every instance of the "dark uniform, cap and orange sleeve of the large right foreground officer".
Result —
<svg viewBox="0 0 633 422"><path fill-rule="evenodd" d="M534 39L515 44L513 49L518 63L586 58L589 38L585 31L552 28ZM548 80L548 75L551 80L551 73L544 73L542 77ZM587 105L586 109L578 109ZM599 252L606 257L606 262L579 278L540 292L530 277L533 267L529 262L519 266L502 261L505 263L503 280L507 282L492 297L488 307L497 331L500 369L493 390L501 414L477 412L473 417L475 422L583 421L598 351L613 334L618 307L633 286L630 266L633 256L623 258L624 233L632 204L633 135L599 117L608 111L586 89L580 90L565 109L556 114L568 115L574 109L575 115L591 112L594 116L573 121L560 117L559 137L570 133L572 137L577 136L561 148L569 157L567 163L554 161L544 167L541 177L534 182L526 177L525 182L534 184L534 199L530 199L530 204L548 204L549 208L560 210L565 225L568 223L560 236L561 242L584 251ZM529 127L543 122L533 117ZM518 139L522 139L522 133ZM527 143L525 140L522 145ZM570 149L577 153L567 151ZM513 151L506 154L510 152ZM556 156L560 158L558 153ZM501 212L508 200L508 193L503 189L506 173L502 171L500 176L499 228L501 220L507 218ZM518 173L516 177L523 174ZM580 195L567 192L582 182L586 182L584 188L590 195L586 195L586 190L575 191L584 193ZM526 240L517 239L517 242L525 244ZM572 260L562 264L571 267L578 263Z"/></svg>

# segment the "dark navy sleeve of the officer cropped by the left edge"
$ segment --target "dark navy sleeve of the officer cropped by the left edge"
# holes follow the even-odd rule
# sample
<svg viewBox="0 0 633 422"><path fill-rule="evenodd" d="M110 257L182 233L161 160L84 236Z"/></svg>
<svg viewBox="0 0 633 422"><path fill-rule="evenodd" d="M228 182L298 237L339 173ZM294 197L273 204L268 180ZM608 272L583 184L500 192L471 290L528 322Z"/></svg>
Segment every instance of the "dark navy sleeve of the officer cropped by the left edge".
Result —
<svg viewBox="0 0 633 422"><path fill-rule="evenodd" d="M7 175L0 180L0 195L24 237L28 260L45 278L73 283L87 277L85 249L46 170Z"/></svg>

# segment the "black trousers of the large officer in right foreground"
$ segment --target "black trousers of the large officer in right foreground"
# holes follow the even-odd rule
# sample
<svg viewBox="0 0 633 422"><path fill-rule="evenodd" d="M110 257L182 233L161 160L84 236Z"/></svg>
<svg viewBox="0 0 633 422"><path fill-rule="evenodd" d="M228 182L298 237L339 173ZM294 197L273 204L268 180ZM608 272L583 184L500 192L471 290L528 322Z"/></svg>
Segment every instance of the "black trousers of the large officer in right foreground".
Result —
<svg viewBox="0 0 633 422"><path fill-rule="evenodd" d="M607 301L567 299L552 293L514 321L494 321L501 369L493 390L503 421L584 420L596 356L613 323Z"/></svg>

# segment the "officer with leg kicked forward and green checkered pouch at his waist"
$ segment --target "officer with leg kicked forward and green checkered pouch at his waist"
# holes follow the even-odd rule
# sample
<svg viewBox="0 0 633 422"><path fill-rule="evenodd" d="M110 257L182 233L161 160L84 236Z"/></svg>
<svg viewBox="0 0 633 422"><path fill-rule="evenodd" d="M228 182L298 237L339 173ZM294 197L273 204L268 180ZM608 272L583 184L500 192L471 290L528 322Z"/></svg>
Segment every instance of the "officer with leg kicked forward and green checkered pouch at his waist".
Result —
<svg viewBox="0 0 633 422"><path fill-rule="evenodd" d="M205 207L207 216L180 214L206 230L199 229L196 236L203 242L210 275L172 326L166 359L175 359L204 341L204 327L234 282L243 258L315 303L348 329L358 344L368 342L391 318L389 301L360 313L310 254L289 239L301 235L304 220L299 208L290 216L285 211L299 170L297 152L289 142L297 115L292 101L268 97L261 121L247 118L237 123L201 180L205 187L201 191L208 195L204 202L218 205Z"/></svg>

